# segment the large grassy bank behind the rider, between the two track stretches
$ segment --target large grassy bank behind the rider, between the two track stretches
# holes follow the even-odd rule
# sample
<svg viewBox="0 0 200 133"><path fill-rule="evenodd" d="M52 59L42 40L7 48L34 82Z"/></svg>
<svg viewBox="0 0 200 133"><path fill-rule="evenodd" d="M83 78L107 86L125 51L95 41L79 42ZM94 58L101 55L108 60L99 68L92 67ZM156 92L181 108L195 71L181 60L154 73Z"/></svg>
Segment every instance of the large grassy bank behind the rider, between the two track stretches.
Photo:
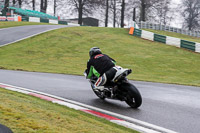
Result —
<svg viewBox="0 0 200 133"><path fill-rule="evenodd" d="M128 35L126 29L71 27L0 48L0 68L83 75L89 49L100 47L133 80L200 86L200 54Z"/></svg>

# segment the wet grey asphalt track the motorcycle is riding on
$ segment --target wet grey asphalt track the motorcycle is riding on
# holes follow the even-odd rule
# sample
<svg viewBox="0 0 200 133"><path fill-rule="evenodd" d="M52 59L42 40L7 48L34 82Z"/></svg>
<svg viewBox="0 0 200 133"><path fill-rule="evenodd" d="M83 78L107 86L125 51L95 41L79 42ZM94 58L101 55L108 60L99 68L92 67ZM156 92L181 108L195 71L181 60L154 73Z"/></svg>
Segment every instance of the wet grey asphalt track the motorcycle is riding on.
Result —
<svg viewBox="0 0 200 133"><path fill-rule="evenodd" d="M28 88L139 119L180 133L200 131L200 87L130 81L141 92L143 104L100 100L83 76L0 70L0 83Z"/></svg>

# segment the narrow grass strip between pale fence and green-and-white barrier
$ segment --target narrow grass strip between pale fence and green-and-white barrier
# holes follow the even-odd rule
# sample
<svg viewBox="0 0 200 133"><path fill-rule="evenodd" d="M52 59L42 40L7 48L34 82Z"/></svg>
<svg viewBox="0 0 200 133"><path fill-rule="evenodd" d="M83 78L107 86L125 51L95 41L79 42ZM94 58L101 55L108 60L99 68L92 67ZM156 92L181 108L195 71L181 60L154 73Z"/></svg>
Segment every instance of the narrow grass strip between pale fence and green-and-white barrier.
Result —
<svg viewBox="0 0 200 133"><path fill-rule="evenodd" d="M193 36L188 36L188 35L184 35L184 34L180 34L180 33L168 32L168 31L151 30L151 29L144 29L144 30L151 31L153 33L160 34L160 35L181 38L183 40L188 40L188 41L192 41L192 42L200 42L199 37L193 37Z"/></svg>

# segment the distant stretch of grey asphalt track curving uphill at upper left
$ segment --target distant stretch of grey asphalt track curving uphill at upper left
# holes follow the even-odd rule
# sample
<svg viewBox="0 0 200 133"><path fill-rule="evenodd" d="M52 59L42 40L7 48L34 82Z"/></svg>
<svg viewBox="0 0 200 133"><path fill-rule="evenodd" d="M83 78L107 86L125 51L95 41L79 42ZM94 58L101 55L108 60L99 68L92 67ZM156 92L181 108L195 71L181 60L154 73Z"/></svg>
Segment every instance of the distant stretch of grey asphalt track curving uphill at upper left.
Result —
<svg viewBox="0 0 200 133"><path fill-rule="evenodd" d="M27 38L41 32L64 28L64 27L70 27L70 26L68 25L27 25L27 26L3 28L3 29L0 29L0 47L5 44L9 44L17 40Z"/></svg>

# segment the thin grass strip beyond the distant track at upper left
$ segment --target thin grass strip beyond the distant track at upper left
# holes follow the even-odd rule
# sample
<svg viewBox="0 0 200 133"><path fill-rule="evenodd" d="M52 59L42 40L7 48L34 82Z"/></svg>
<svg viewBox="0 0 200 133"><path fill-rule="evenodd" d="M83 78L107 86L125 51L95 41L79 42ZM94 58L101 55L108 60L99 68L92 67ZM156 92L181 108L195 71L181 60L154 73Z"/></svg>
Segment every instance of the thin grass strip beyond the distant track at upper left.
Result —
<svg viewBox="0 0 200 133"><path fill-rule="evenodd" d="M0 29L15 27L15 26L24 26L24 25L49 25L48 23L37 23L37 22L10 22L10 21L0 21Z"/></svg>

